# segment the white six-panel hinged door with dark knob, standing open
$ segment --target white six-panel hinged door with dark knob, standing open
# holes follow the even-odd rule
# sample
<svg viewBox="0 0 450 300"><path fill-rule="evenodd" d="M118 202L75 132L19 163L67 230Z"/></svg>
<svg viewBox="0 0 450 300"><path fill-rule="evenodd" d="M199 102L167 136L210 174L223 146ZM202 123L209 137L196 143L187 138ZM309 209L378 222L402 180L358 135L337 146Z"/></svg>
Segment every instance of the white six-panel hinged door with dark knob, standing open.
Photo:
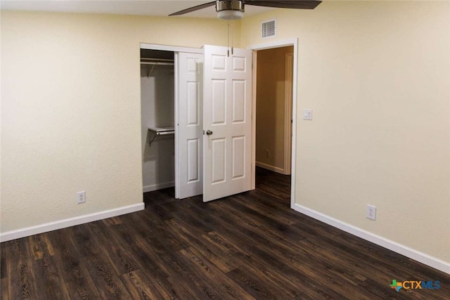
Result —
<svg viewBox="0 0 450 300"><path fill-rule="evenodd" d="M203 201L251 188L252 51L205 46Z"/></svg>

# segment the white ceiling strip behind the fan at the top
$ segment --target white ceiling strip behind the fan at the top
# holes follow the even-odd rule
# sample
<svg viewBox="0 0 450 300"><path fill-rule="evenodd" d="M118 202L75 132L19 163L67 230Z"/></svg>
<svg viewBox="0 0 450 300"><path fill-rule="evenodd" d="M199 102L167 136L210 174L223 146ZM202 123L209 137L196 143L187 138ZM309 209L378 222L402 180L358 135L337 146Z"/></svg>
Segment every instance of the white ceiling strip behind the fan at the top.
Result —
<svg viewBox="0 0 450 300"><path fill-rule="evenodd" d="M1 10L13 11L55 11L71 13L110 13L120 15L167 16L192 6L212 0L0 0ZM245 16L257 15L274 8L245 6ZM188 13L181 17L216 18L214 6ZM172 18L180 18L179 16Z"/></svg>

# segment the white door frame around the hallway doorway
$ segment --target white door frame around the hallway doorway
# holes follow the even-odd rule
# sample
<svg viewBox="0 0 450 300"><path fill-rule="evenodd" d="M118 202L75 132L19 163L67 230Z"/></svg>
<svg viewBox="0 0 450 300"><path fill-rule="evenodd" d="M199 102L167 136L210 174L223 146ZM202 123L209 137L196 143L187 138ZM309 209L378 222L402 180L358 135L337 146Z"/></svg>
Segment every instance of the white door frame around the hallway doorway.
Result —
<svg viewBox="0 0 450 300"><path fill-rule="evenodd" d="M298 39L285 39L282 41L272 41L264 44L255 44L248 46L248 49L254 51L253 53L253 87L252 87L252 190L256 188L255 171L256 171L256 51L266 50L271 48L281 48L285 46L294 46L293 57L293 103L292 103L292 152L291 152L291 179L290 179L290 208L294 209L295 205L295 158L297 157L297 143L296 143L296 129L297 129L297 65L298 65Z"/></svg>

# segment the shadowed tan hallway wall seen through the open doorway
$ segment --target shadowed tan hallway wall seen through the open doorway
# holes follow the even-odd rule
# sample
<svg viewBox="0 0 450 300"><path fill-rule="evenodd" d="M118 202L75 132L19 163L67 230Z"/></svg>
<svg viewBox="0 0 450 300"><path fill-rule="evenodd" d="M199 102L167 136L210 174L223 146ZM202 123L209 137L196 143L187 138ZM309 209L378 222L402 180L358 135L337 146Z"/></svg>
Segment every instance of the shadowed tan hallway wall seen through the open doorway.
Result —
<svg viewBox="0 0 450 300"><path fill-rule="evenodd" d="M289 46L257 53L256 161L281 173L284 170L285 55L293 50Z"/></svg>

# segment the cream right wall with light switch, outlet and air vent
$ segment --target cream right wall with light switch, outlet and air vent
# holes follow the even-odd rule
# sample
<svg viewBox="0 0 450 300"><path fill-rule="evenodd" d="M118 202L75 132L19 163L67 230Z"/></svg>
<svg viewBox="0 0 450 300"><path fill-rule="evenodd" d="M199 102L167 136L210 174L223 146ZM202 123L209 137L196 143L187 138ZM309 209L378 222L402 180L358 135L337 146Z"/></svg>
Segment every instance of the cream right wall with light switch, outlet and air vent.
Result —
<svg viewBox="0 0 450 300"><path fill-rule="evenodd" d="M295 204L450 263L450 3L324 1L242 22L299 40ZM366 204L377 220L366 219Z"/></svg>

